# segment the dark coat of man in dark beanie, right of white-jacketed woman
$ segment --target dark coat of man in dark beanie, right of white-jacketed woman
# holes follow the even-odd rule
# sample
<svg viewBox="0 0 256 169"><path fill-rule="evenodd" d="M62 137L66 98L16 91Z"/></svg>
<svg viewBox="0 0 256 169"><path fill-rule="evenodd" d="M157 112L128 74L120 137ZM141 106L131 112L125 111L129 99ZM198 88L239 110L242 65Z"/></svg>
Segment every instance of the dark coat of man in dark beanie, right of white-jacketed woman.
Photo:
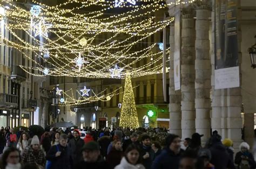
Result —
<svg viewBox="0 0 256 169"><path fill-rule="evenodd" d="M161 154L154 159L152 169L178 169L182 150L178 154L174 154L169 148L161 151Z"/></svg>

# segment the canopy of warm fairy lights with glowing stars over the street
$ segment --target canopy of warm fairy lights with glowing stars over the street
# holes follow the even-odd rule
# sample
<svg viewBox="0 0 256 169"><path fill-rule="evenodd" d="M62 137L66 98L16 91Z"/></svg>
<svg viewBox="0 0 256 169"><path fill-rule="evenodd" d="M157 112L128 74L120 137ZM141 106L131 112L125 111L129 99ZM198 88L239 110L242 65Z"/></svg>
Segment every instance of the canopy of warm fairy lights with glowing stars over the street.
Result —
<svg viewBox="0 0 256 169"><path fill-rule="evenodd" d="M194 1L68 0L55 5L32 2L28 8L16 1L4 0L2 3L9 7L0 15L0 20L6 18L5 29L17 39L4 37L4 45L32 62L33 66L19 65L26 73L125 79L127 72L131 78L163 73L163 43L156 37L174 20L163 19L163 10L170 5ZM170 50L166 47L166 55ZM73 90L62 91L60 103L108 101L117 94L117 90L108 95L91 90L93 96L84 97L89 89L85 87L80 91L77 90L78 99Z"/></svg>

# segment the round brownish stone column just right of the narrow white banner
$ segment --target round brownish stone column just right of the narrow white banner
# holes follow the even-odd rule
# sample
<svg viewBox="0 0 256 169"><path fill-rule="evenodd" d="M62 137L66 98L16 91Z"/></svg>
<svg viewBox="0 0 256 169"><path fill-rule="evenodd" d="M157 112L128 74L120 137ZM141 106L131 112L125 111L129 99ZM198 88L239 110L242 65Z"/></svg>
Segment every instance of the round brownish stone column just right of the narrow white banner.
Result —
<svg viewBox="0 0 256 169"><path fill-rule="evenodd" d="M192 9L183 9L181 41L181 129L184 139L195 132L195 30Z"/></svg>

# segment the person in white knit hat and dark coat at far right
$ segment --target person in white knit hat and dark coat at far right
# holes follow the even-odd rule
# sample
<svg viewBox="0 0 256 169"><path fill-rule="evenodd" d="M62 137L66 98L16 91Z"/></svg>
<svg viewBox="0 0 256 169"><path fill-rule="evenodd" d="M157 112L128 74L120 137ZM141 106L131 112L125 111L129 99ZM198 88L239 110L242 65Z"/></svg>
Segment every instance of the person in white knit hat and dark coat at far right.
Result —
<svg viewBox="0 0 256 169"><path fill-rule="evenodd" d="M234 163L241 169L255 168L254 157L250 150L250 146L246 142L242 142L239 146L240 151L235 154Z"/></svg>

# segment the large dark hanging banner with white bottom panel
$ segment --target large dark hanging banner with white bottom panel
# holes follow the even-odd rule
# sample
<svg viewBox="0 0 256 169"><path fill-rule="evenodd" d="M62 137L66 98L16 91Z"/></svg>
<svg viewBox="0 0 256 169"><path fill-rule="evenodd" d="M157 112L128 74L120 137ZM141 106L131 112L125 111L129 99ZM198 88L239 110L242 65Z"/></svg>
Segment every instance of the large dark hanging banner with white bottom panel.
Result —
<svg viewBox="0 0 256 169"><path fill-rule="evenodd" d="M215 0L215 89L239 87L238 0Z"/></svg>

